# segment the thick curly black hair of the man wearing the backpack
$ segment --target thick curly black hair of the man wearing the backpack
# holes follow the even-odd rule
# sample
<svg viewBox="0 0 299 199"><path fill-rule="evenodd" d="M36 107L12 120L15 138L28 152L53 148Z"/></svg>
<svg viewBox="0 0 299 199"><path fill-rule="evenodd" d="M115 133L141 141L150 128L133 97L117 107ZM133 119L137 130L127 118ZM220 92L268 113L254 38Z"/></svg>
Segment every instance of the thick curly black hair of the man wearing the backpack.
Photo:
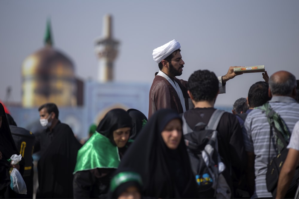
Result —
<svg viewBox="0 0 299 199"><path fill-rule="evenodd" d="M194 101L213 101L219 91L219 81L214 72L197 70L190 75L187 88Z"/></svg>

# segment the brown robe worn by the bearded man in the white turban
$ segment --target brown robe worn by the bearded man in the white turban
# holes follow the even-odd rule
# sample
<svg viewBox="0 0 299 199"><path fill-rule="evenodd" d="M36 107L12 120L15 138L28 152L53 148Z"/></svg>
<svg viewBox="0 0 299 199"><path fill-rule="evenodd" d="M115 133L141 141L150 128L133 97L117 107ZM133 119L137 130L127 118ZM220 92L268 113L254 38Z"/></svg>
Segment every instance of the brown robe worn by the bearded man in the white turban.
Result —
<svg viewBox="0 0 299 199"><path fill-rule="evenodd" d="M185 99L186 110L189 109L189 95L187 93L187 81L174 78L179 84ZM170 108L178 113L183 113L183 107L178 93L173 86L162 76L156 75L149 91L149 115L148 118L159 109Z"/></svg>

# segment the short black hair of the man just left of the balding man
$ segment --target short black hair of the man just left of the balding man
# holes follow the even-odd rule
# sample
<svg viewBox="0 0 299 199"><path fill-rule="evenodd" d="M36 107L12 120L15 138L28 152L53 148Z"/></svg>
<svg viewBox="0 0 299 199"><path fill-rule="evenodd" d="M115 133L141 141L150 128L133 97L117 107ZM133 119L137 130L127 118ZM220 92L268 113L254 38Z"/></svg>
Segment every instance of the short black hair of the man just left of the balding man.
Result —
<svg viewBox="0 0 299 199"><path fill-rule="evenodd" d="M248 104L250 108L259 107L269 101L269 84L264 81L258 81L250 87L248 91Z"/></svg>

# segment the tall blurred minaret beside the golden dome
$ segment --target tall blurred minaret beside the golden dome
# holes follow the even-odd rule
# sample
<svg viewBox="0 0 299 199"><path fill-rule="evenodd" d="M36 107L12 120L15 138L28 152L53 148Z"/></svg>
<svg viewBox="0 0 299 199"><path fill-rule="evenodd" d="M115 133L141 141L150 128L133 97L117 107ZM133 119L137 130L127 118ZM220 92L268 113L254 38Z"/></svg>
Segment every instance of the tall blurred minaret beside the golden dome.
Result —
<svg viewBox="0 0 299 199"><path fill-rule="evenodd" d="M113 62L117 56L119 41L112 37L112 16L103 20L103 37L95 41L95 51L99 58L98 81L113 81Z"/></svg>

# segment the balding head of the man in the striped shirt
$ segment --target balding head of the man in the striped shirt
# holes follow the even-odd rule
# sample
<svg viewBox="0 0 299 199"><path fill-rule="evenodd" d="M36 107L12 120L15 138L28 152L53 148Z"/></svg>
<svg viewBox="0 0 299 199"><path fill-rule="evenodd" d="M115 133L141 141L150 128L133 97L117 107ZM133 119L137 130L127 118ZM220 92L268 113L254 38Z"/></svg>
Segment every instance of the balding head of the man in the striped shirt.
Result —
<svg viewBox="0 0 299 199"><path fill-rule="evenodd" d="M269 78L269 89L272 95L291 96L296 86L295 76L288 71L275 72Z"/></svg>

